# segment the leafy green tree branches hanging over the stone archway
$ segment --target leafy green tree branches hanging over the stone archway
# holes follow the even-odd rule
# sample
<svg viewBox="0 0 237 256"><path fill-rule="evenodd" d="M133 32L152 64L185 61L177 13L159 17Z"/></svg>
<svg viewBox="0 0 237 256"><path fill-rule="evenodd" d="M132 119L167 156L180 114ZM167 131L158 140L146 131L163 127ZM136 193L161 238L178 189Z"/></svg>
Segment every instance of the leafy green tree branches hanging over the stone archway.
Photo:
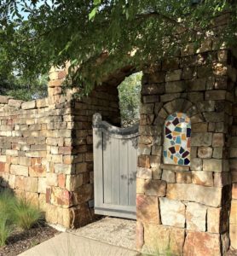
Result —
<svg viewBox="0 0 237 256"><path fill-rule="evenodd" d="M219 44L229 46L236 42L237 11L229 0L1 3L0 72L8 67L34 77L71 61L70 79L85 92L119 67L141 69L187 42L196 48L206 37L218 36Z"/></svg>

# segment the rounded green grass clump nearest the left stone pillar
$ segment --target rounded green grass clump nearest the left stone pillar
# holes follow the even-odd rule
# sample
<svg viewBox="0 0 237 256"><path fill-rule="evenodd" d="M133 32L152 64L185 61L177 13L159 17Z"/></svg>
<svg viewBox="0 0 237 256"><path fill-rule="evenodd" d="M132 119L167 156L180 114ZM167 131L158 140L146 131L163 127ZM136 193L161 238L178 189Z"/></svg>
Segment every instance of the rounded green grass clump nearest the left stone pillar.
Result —
<svg viewBox="0 0 237 256"><path fill-rule="evenodd" d="M42 212L30 201L19 199L14 204L14 223L23 230L30 230L34 224L42 220Z"/></svg>

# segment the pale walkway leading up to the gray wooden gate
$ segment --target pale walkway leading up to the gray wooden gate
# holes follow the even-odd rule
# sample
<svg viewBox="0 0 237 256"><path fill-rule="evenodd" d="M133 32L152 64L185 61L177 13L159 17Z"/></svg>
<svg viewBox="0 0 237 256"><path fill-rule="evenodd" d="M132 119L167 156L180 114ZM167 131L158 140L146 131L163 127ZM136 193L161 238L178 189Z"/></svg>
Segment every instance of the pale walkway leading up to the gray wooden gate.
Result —
<svg viewBox="0 0 237 256"><path fill-rule="evenodd" d="M19 256L136 256L135 221L103 218L44 241Z"/></svg>

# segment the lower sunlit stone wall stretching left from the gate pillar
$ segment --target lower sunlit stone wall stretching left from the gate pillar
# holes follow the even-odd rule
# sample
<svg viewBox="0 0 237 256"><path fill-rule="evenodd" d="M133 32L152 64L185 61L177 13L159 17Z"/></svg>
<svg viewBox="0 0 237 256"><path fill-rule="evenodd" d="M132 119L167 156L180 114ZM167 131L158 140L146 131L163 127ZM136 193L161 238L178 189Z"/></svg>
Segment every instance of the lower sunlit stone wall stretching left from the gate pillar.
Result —
<svg viewBox="0 0 237 256"><path fill-rule="evenodd" d="M45 210L47 99L21 102L0 96L0 187Z"/></svg>

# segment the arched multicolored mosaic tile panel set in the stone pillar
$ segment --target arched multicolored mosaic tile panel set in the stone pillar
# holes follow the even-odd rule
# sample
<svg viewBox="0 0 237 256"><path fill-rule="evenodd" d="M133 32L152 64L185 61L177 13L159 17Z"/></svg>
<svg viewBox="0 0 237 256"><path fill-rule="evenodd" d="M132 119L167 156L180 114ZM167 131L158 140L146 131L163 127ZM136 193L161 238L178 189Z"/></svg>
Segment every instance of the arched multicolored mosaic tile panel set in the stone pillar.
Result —
<svg viewBox="0 0 237 256"><path fill-rule="evenodd" d="M185 113L172 113L165 120L164 163L190 165L191 122Z"/></svg>

